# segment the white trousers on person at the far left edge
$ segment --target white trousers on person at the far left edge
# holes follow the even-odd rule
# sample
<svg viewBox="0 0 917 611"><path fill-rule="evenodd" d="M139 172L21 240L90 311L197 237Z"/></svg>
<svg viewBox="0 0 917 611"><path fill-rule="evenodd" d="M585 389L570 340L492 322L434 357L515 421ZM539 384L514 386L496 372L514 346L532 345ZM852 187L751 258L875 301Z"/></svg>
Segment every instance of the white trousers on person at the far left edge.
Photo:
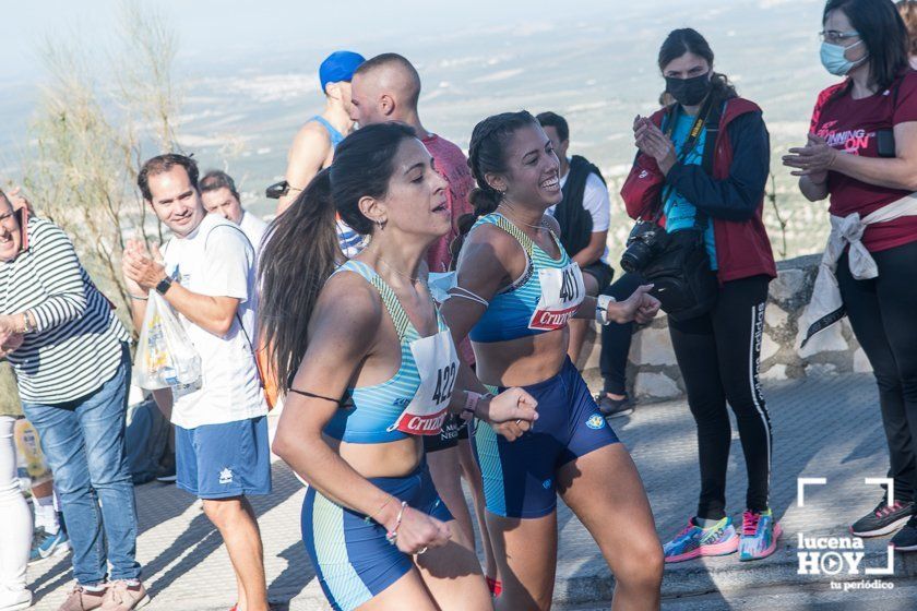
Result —
<svg viewBox="0 0 917 611"><path fill-rule="evenodd" d="M32 512L16 478L15 422L11 416L0 416L0 587L22 590L32 547Z"/></svg>

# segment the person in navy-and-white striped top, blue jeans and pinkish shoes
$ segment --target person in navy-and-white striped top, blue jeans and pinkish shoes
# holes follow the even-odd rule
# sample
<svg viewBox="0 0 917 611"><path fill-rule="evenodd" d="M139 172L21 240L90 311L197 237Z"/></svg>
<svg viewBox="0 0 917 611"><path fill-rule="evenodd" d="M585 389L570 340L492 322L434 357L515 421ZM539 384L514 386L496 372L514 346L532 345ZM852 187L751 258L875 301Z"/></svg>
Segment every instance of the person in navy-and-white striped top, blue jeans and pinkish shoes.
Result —
<svg viewBox="0 0 917 611"><path fill-rule="evenodd" d="M71 536L76 586L60 611L133 609L148 598L124 452L130 336L67 235L25 217L0 191L0 356L15 368Z"/></svg>

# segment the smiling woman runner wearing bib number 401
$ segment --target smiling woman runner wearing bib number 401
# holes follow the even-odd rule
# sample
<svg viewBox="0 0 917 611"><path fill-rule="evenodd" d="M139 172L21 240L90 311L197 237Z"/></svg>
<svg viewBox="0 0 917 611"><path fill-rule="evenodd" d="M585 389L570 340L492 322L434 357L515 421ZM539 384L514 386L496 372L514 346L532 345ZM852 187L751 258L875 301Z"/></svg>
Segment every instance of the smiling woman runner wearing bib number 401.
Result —
<svg viewBox="0 0 917 611"><path fill-rule="evenodd" d="M486 422L475 431L503 586L497 608L550 608L559 493L615 574L612 608L657 609L663 551L650 503L630 455L567 358L567 321L646 322L659 303L645 286L621 303L584 296L580 269L545 214L561 199L559 161L532 115L478 123L468 164L478 183L472 202L484 216L464 240L443 314L455 338L471 336L478 378L522 386L539 415L512 444Z"/></svg>

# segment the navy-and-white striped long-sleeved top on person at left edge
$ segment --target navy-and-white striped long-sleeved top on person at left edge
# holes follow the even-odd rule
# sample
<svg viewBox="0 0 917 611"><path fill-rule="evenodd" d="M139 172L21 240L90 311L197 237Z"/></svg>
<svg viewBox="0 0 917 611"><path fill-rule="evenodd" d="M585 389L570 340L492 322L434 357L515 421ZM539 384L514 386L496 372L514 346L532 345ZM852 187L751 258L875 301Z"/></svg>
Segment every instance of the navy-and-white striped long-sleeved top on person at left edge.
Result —
<svg viewBox="0 0 917 611"><path fill-rule="evenodd" d="M28 310L37 332L9 356L26 403L60 404L108 382L130 335L80 264L70 238L49 220L28 220L28 248L0 263L0 312Z"/></svg>

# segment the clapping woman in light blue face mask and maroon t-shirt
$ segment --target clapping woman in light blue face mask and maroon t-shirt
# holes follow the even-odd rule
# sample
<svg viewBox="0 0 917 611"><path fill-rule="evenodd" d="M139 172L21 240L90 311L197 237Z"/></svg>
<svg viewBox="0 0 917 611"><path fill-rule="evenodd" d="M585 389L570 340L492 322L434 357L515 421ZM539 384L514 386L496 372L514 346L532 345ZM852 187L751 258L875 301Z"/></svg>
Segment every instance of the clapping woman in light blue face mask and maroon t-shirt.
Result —
<svg viewBox="0 0 917 611"><path fill-rule="evenodd" d="M846 77L819 95L807 145L791 148L784 164L795 168L793 175L800 177L799 189L809 201L830 197L831 202L833 230L826 256L836 265L836 283L817 281L819 299L813 297L810 312L846 310L879 384L894 498L883 493L851 530L870 537L904 525L892 543L913 551L917 550L917 73L908 68L905 25L888 0L831 0L823 27L822 63L832 74ZM832 285L839 293L837 288L819 290ZM835 307L818 308L820 303ZM818 320L807 316L806 323Z"/></svg>

